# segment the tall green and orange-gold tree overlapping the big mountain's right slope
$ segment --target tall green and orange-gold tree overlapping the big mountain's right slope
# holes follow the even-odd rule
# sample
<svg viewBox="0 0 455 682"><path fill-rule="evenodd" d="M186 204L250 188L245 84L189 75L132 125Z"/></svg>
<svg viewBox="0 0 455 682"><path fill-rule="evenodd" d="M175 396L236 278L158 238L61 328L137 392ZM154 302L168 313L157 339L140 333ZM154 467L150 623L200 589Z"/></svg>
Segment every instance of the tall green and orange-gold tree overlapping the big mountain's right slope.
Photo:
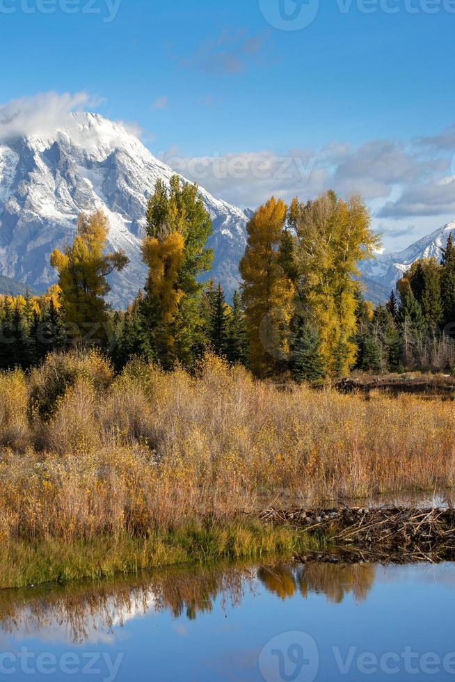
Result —
<svg viewBox="0 0 455 682"><path fill-rule="evenodd" d="M148 268L143 316L147 354L164 367L188 366L201 347L198 277L211 267L211 220L195 184L158 180L147 207L143 260Z"/></svg>

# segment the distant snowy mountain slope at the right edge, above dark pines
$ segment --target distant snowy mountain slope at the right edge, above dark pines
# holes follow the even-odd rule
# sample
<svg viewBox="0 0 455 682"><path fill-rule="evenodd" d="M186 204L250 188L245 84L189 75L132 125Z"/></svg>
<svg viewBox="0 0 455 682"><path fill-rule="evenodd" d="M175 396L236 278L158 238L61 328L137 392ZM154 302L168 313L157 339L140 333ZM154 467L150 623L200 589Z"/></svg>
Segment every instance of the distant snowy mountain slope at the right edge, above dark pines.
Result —
<svg viewBox="0 0 455 682"><path fill-rule="evenodd" d="M431 232L431 235L415 241L403 251L381 253L374 260L362 262L360 264L362 276L365 280L372 280L390 292L394 289L397 280L416 260L435 257L436 260L440 261L441 249L447 244L450 234L455 239L455 221L435 230L435 232Z"/></svg>

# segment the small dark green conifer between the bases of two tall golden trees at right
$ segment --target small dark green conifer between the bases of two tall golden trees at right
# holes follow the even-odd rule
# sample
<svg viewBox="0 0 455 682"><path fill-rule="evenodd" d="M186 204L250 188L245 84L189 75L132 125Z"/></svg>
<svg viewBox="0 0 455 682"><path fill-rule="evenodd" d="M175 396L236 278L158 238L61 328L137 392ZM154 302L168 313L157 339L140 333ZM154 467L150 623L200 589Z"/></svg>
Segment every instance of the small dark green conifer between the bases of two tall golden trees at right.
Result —
<svg viewBox="0 0 455 682"><path fill-rule="evenodd" d="M289 368L294 381L318 381L326 376L324 360L319 352L319 335L304 317L292 323L291 360Z"/></svg>

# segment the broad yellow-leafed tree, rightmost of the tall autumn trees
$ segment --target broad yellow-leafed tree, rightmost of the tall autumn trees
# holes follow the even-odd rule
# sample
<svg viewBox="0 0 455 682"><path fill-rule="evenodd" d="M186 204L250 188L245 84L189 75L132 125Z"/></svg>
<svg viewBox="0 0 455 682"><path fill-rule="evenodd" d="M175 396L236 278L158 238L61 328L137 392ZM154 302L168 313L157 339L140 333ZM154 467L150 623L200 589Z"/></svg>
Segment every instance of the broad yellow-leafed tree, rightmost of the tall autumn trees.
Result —
<svg viewBox="0 0 455 682"><path fill-rule="evenodd" d="M358 262L379 245L370 222L360 196L344 201L332 191L308 203L294 200L289 210L297 288L332 376L346 374L356 360Z"/></svg>

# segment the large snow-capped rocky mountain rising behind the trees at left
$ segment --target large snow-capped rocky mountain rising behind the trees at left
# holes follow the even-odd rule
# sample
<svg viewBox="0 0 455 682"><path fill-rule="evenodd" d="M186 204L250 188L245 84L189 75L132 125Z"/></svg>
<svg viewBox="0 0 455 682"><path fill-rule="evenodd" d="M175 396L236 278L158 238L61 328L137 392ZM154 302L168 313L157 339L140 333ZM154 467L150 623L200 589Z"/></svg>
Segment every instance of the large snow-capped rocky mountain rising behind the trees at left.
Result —
<svg viewBox="0 0 455 682"><path fill-rule="evenodd" d="M70 113L52 135L0 143L0 274L45 290L56 280L49 255L72 241L81 212L102 209L109 246L130 264L111 280L114 306L129 303L145 282L140 244L147 198L174 171L125 125L92 113ZM211 274L229 295L239 286L247 214L200 189L214 233Z"/></svg>

